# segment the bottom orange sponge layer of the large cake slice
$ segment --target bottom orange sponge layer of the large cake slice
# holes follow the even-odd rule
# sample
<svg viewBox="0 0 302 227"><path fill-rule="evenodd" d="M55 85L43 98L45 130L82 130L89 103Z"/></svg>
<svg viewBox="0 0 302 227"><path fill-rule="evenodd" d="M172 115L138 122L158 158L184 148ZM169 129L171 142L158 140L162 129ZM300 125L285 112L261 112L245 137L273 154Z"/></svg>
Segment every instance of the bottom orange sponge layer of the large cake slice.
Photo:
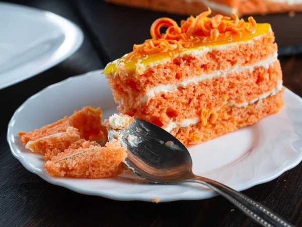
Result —
<svg viewBox="0 0 302 227"><path fill-rule="evenodd" d="M283 91L284 89L276 95L260 99L247 107L225 106L217 112L217 116L209 115L207 112L202 121L200 118L192 119L192 122L195 120L195 124L187 124L187 127L177 124L171 133L188 145L205 142L239 128L253 125L262 118L279 112L284 106Z"/></svg>

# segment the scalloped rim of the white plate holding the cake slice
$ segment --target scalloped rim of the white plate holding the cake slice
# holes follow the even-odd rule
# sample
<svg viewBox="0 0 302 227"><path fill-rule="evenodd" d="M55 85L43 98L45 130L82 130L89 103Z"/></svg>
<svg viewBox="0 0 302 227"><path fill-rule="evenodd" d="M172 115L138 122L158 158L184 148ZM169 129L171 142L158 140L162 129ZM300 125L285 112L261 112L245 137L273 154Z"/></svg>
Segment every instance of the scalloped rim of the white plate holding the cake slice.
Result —
<svg viewBox="0 0 302 227"><path fill-rule="evenodd" d="M7 132L7 141L9 143L9 147L10 150L13 154L13 156L15 158L17 158L21 164L31 173L34 173L36 175L38 175L40 178L42 178L43 180L45 180L46 182L53 184L53 185L57 185L57 186L61 186L64 188L67 188L71 191L77 192L77 193L81 193L81 194L85 194L85 195L94 195L94 196L101 196L104 198L108 198L108 199L113 199L113 200L119 200L119 201L146 201L146 202L152 202L152 200L155 198L154 195L152 196L145 196L145 195L140 195L140 194L121 194L119 195L118 193L111 193L111 192L104 192L104 191L99 191L99 190L88 190L88 189L81 189L79 187L74 187L73 185L70 185L69 183L64 183L64 182L57 182L55 179L55 177L51 177L49 175L45 175L43 174L43 172L37 172L35 170L34 167L32 167L22 155L19 155L17 152L15 152L13 146L16 145L13 140L11 140L11 136L14 136L11 132L12 126L14 124L16 115L24 108L24 106L26 105L27 102L31 101L32 99L34 99L35 97L41 95L43 92L56 87L56 86L60 86L64 83L68 83L68 81L70 80L74 80L74 79L78 79L78 78L83 78L83 77L89 77L92 76L94 74L102 74L103 69L100 70L95 70L95 71L91 71L85 74L81 74L81 75L77 75L77 76L72 76L69 77L67 79L64 79L60 82L51 84L45 88L43 88L42 90L40 90L39 92L37 92L36 94L30 96L29 98L27 98L14 112L9 124L8 124L8 132ZM290 91L288 88L285 87L285 91L289 92L291 95L294 95L295 97L297 97L299 99L299 101L302 104L302 98L300 96L298 96L297 94L293 93L292 91ZM279 167L277 170L273 171L270 174L267 174L265 176L262 176L260 178L257 179L252 179L249 180L245 183L242 183L236 187L233 187L235 190L237 191L243 191L246 189L249 189L251 187L254 187L256 185L260 185L263 183L267 183L269 181L272 181L274 179L276 179L277 177L279 177L280 175L282 175L283 173L285 173L286 171L288 171L289 169L297 166L300 162L302 161L302 152L298 152L297 156L294 157L293 159L291 159L290 161L288 161L286 164L282 165L281 167ZM99 179L101 180L101 179ZM186 183L185 183L186 184ZM207 198L211 198L214 196L217 196L218 194L213 192L213 191L204 191L203 194L200 195L187 195L185 193L180 194L177 196L177 198L175 198L175 195L169 196L169 195L165 195L165 196L161 196L160 198L160 202L171 202L171 201L179 201L179 200L201 200L201 199L207 199ZM122 197L121 197L122 196Z"/></svg>

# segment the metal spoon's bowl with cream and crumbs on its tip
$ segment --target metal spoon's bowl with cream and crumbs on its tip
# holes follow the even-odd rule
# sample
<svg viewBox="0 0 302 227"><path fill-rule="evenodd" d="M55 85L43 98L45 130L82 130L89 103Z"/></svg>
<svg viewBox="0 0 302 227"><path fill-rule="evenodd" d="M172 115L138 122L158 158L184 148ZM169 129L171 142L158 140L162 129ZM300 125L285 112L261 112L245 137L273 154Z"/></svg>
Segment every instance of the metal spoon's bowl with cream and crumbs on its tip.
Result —
<svg viewBox="0 0 302 227"><path fill-rule="evenodd" d="M135 119L126 130L108 130L109 140L116 137L131 150L124 163L139 177L158 184L194 178L188 149L166 130Z"/></svg>

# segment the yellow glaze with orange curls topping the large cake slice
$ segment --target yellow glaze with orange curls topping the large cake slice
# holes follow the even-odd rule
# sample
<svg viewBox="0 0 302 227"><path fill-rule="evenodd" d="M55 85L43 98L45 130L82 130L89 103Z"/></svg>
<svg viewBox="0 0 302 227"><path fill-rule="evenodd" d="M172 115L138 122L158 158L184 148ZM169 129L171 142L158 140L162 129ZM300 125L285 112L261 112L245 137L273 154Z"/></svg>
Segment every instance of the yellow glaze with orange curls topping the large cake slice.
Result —
<svg viewBox="0 0 302 227"><path fill-rule="evenodd" d="M134 44L133 51L109 63L104 74L116 72L121 63L126 69L136 69L136 64L148 65L169 59L179 52L247 41L270 29L269 24L256 24L253 17L245 22L239 20L236 14L233 14L234 20L222 15L208 18L210 14L211 10L208 9L197 17L191 16L186 21L182 20L180 27L170 18L156 20L150 28L152 39L139 45ZM160 29L163 27L167 27L167 30L162 34Z"/></svg>

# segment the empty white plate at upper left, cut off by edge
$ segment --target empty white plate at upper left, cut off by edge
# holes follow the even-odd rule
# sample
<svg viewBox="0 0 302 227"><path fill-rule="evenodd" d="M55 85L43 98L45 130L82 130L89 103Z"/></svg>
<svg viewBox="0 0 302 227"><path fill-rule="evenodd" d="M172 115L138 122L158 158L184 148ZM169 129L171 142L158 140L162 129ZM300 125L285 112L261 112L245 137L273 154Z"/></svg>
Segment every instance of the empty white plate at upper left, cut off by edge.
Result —
<svg viewBox="0 0 302 227"><path fill-rule="evenodd" d="M0 3L0 89L62 62L83 43L82 30L47 11Z"/></svg>

